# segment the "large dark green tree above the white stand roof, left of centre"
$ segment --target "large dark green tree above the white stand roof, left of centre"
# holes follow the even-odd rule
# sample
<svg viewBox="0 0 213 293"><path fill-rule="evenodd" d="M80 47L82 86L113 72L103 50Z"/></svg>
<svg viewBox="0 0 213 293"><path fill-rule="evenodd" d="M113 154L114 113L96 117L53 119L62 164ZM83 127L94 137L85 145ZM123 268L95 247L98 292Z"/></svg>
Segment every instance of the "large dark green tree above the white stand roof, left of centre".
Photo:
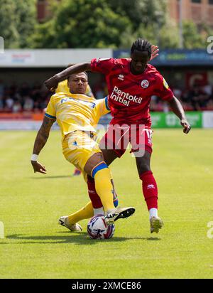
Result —
<svg viewBox="0 0 213 293"><path fill-rule="evenodd" d="M131 26L106 0L64 0L57 7L31 38L34 48L116 48L122 31Z"/></svg>

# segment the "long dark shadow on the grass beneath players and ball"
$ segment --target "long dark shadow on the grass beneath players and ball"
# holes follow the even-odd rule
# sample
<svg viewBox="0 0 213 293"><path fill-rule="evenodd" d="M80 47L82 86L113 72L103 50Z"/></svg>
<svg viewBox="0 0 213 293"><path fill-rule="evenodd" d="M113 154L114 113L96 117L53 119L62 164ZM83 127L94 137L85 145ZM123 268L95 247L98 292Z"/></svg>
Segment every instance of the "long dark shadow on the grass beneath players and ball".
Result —
<svg viewBox="0 0 213 293"><path fill-rule="evenodd" d="M94 240L90 239L88 234L86 232L81 233L67 233L67 232L60 232L60 234L63 235L48 235L48 236L29 236L29 235L7 235L6 239L13 239L13 240L21 240L18 243L1 243L1 244L33 244L33 243L40 243L40 244L56 244L56 243L75 243L77 245L95 245L97 243L115 243L115 242L122 242L122 241L128 241L128 240L160 240L160 238L143 238L143 237L116 237L114 235L113 238L107 239L107 240ZM30 241L26 241L30 240Z"/></svg>

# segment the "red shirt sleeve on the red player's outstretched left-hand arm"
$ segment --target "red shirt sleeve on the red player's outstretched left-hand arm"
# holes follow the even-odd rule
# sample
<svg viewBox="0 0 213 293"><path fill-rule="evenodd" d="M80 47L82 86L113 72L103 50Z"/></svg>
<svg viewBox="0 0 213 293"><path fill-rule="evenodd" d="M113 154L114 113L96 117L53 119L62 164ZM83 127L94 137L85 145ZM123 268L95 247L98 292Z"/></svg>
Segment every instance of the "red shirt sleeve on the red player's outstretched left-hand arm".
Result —
<svg viewBox="0 0 213 293"><path fill-rule="evenodd" d="M114 58L94 58L91 60L91 70L98 73L108 74L114 65Z"/></svg>

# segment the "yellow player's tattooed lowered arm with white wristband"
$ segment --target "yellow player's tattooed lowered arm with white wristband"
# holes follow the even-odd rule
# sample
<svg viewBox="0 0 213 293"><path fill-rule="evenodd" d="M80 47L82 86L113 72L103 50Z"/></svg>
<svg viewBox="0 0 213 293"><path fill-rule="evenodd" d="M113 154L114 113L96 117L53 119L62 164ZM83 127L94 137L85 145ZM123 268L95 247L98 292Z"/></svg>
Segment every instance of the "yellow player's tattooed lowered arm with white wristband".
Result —
<svg viewBox="0 0 213 293"><path fill-rule="evenodd" d="M35 138L35 143L33 146L33 155L40 154L40 151L43 149L43 146L45 146L45 143L48 141L48 137L50 134L50 128L52 127L53 123L55 122L54 119L49 119L48 117L44 117L43 123L38 130L38 134ZM34 173L40 172L43 174L46 174L45 166L40 164L37 160L31 159L31 164L33 166Z"/></svg>

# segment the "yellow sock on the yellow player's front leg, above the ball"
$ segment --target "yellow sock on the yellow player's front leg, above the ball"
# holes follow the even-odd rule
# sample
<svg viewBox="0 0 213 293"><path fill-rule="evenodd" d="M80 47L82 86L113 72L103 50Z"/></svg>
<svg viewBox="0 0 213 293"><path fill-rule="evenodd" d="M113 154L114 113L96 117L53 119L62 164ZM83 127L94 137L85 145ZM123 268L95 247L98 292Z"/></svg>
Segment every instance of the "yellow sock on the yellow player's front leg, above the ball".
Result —
<svg viewBox="0 0 213 293"><path fill-rule="evenodd" d="M98 170L94 175L94 183L97 194L101 198L104 211L114 210L109 168Z"/></svg>

